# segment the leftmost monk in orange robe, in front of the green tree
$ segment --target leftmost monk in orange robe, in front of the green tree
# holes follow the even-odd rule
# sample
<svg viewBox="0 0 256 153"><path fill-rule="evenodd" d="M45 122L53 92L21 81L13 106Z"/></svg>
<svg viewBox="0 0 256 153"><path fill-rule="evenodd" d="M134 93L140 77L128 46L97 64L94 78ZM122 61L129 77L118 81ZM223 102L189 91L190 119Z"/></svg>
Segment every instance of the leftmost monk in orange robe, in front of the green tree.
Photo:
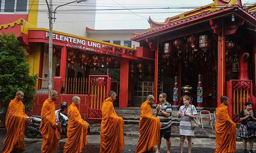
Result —
<svg viewBox="0 0 256 153"><path fill-rule="evenodd" d="M4 141L3 153L22 152L26 150L24 141L25 122L32 120L25 114L25 107L22 103L24 93L16 92L16 97L11 100L6 114L6 131L7 135Z"/></svg>

